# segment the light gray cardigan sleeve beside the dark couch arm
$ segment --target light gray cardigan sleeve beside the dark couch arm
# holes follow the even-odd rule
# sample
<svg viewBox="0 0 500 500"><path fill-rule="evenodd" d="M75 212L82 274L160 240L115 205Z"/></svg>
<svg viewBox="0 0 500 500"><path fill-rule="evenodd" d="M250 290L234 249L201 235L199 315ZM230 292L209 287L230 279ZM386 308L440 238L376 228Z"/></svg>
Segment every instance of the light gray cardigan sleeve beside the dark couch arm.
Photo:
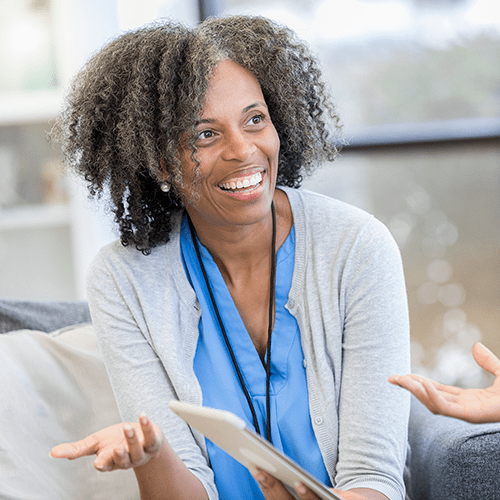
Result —
<svg viewBox="0 0 500 500"><path fill-rule="evenodd" d="M400 500L410 396L387 379L410 369L408 305L399 249L376 219L353 242L340 300L337 487L373 488Z"/></svg>

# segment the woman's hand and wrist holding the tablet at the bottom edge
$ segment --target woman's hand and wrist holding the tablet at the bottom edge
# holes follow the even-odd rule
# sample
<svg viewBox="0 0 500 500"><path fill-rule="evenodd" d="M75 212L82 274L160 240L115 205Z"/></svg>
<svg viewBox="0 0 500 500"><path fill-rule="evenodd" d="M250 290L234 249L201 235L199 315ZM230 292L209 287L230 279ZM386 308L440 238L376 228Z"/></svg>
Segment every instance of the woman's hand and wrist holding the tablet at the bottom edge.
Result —
<svg viewBox="0 0 500 500"><path fill-rule="evenodd" d="M257 474L254 475L255 480L259 483L262 493L266 500L293 500L292 495L283 486L283 484L278 481L275 477L271 476L267 472L259 470ZM363 489L363 494L357 493L353 490L351 491L339 491L331 488L335 494L342 498L342 500L386 500L387 497L379 493L378 491ZM295 486L295 491L297 495L302 500L320 500L319 497L314 494L309 488L306 488L302 483Z"/></svg>

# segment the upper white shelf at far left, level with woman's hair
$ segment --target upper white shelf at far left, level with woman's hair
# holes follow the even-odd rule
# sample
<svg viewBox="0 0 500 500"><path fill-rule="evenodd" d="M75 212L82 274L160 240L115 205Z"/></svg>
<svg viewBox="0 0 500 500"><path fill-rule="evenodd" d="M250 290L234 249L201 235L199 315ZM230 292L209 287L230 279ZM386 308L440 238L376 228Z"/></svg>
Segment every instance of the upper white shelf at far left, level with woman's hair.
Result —
<svg viewBox="0 0 500 500"><path fill-rule="evenodd" d="M0 126L47 122L61 110L60 90L0 93Z"/></svg>

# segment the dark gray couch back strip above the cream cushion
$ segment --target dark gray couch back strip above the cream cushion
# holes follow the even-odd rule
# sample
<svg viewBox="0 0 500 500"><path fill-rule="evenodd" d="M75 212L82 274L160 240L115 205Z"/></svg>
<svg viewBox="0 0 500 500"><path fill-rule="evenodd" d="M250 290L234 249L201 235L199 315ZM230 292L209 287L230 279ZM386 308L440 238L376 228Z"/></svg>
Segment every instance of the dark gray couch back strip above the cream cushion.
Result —
<svg viewBox="0 0 500 500"><path fill-rule="evenodd" d="M0 300L0 333L22 329L48 333L89 321L86 302Z"/></svg>

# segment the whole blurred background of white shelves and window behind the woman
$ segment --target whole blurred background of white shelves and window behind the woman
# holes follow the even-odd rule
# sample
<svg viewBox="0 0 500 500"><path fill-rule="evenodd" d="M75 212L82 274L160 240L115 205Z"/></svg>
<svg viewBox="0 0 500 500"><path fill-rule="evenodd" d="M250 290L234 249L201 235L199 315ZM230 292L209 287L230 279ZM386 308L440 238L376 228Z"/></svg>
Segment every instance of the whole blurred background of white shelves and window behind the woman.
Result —
<svg viewBox="0 0 500 500"><path fill-rule="evenodd" d="M485 385L500 354L498 0L0 0L0 297L84 299L116 234L46 140L71 76L159 17L256 13L321 61L347 145L305 186L382 220L405 266L413 371Z"/></svg>

